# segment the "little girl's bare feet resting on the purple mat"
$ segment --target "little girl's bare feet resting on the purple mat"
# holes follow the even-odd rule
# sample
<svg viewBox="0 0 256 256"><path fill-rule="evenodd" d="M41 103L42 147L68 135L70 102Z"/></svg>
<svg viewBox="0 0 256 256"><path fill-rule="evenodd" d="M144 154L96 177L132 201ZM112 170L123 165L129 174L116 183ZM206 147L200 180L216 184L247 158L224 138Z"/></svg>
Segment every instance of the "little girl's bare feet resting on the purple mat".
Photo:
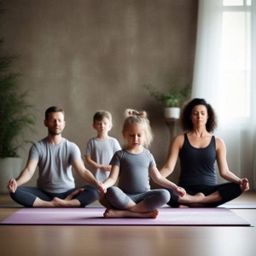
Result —
<svg viewBox="0 0 256 256"><path fill-rule="evenodd" d="M107 209L104 212L105 218L151 218L155 219L158 215L159 211L156 209L152 212L131 212L128 210L112 210Z"/></svg>

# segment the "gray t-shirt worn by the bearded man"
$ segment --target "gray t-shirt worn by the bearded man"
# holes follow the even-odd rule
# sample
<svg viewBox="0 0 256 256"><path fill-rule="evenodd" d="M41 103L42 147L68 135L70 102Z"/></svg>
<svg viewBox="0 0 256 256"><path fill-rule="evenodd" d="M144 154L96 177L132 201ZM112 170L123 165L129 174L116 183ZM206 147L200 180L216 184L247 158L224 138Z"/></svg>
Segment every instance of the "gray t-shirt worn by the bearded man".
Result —
<svg viewBox="0 0 256 256"><path fill-rule="evenodd" d="M78 146L62 138L58 145L44 138L30 149L29 159L38 160L37 187L51 193L62 193L75 187L72 161L81 159Z"/></svg>

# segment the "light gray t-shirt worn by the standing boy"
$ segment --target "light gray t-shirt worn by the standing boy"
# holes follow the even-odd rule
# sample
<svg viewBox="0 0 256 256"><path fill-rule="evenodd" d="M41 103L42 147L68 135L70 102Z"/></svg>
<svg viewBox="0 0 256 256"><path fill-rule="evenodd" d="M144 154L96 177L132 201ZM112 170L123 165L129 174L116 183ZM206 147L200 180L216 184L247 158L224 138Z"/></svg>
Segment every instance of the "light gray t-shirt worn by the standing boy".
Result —
<svg viewBox="0 0 256 256"><path fill-rule="evenodd" d="M92 138L87 142L85 156L90 156L97 164L109 165L114 153L120 150L121 147L117 139L108 137L107 139ZM89 170L94 174L95 178L104 182L109 177L110 172L106 172L99 168L89 167Z"/></svg>

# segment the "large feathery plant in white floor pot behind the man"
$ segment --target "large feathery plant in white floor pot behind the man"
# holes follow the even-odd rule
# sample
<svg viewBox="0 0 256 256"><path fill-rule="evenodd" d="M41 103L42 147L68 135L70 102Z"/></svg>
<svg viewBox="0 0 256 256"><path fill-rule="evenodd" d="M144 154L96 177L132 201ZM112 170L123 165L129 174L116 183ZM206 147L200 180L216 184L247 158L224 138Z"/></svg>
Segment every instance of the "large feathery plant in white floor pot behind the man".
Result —
<svg viewBox="0 0 256 256"><path fill-rule="evenodd" d="M26 142L23 132L33 130L35 118L31 112L34 107L27 102L28 91L19 92L21 74L11 69L16 57L3 53L3 43L0 39L0 192L6 193L8 180L21 171L17 150Z"/></svg>

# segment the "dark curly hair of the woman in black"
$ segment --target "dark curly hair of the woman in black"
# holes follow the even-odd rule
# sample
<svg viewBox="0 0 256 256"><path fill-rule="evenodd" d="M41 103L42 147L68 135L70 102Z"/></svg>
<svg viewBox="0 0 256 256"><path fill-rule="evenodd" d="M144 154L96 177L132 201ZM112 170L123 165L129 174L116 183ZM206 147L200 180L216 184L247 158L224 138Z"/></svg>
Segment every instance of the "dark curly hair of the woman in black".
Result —
<svg viewBox="0 0 256 256"><path fill-rule="evenodd" d="M195 98L188 102L182 110L180 123L184 132L190 132L193 129L193 123L191 121L192 110L197 105L204 105L207 108L208 120L206 123L207 132L214 132L217 128L217 116L214 109L208 104L205 99Z"/></svg>

